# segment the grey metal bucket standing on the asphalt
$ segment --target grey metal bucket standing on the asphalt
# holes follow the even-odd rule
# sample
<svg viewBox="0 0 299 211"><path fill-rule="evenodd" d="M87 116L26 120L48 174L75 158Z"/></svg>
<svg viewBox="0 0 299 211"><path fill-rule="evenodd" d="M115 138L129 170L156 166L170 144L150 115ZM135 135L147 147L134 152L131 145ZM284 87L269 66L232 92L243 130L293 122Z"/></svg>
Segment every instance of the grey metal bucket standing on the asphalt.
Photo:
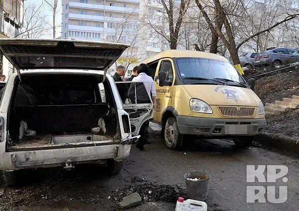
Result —
<svg viewBox="0 0 299 211"><path fill-rule="evenodd" d="M185 173L188 199L205 201L208 198L209 179L210 174L204 170Z"/></svg>

